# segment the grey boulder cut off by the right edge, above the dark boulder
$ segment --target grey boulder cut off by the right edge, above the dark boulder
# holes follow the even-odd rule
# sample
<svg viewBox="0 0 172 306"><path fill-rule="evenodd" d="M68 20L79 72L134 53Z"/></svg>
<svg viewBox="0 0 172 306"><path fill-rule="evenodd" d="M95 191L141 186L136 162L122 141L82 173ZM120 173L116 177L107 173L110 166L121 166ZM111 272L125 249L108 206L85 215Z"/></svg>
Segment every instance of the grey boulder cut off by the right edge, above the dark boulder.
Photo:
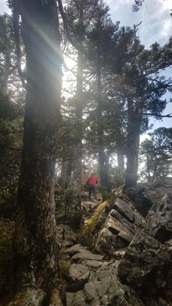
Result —
<svg viewBox="0 0 172 306"><path fill-rule="evenodd" d="M146 229L151 237L162 243L172 238L172 195L166 194L150 209Z"/></svg>

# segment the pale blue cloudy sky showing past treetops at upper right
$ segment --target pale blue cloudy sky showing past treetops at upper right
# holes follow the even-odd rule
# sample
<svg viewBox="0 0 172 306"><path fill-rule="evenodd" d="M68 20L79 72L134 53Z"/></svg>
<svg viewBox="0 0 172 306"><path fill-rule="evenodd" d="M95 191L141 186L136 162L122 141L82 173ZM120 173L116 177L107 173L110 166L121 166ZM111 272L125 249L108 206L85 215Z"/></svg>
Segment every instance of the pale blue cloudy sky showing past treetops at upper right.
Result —
<svg viewBox="0 0 172 306"><path fill-rule="evenodd" d="M106 0L110 7L110 14L113 21L120 21L122 25L133 27L134 24L139 25L138 36L141 43L148 48L151 43L157 41L161 45L165 44L169 37L172 36L172 17L170 9L172 9L171 0L145 0L139 12L132 12L134 0ZM0 0L0 13L9 12L6 0ZM172 77L172 70L168 68L163 74ZM171 94L166 94L166 98L172 98ZM168 104L164 114L172 113L172 104ZM159 126L172 127L172 118L164 118L163 122L155 121L154 129Z"/></svg>

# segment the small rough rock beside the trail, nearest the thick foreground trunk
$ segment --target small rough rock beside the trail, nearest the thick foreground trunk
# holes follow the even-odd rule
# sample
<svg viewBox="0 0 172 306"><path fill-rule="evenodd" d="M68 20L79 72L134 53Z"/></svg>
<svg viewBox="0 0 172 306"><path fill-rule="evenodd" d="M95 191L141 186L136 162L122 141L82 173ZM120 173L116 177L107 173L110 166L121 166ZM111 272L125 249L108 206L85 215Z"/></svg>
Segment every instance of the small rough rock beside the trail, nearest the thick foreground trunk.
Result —
<svg viewBox="0 0 172 306"><path fill-rule="evenodd" d="M64 246L71 246L77 240L76 235L71 228L68 225L63 224L57 226L57 237L59 242L63 241Z"/></svg>

